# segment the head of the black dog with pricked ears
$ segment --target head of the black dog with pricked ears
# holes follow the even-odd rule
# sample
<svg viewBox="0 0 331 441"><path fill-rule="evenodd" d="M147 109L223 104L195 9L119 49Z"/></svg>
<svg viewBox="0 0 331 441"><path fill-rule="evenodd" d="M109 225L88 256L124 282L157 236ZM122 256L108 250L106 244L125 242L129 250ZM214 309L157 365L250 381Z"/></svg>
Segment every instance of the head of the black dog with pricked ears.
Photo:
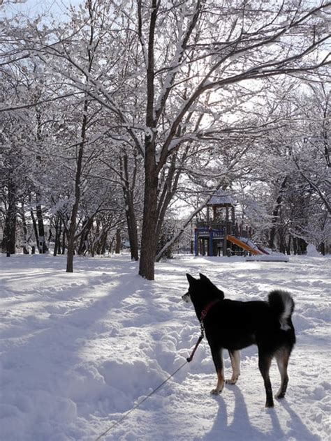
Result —
<svg viewBox="0 0 331 441"><path fill-rule="evenodd" d="M186 274L189 281L189 291L182 296L182 299L188 303L191 301L194 306L203 306L214 300L223 300L224 292L219 290L209 278L203 274L199 274L199 278L194 278L190 274Z"/></svg>

